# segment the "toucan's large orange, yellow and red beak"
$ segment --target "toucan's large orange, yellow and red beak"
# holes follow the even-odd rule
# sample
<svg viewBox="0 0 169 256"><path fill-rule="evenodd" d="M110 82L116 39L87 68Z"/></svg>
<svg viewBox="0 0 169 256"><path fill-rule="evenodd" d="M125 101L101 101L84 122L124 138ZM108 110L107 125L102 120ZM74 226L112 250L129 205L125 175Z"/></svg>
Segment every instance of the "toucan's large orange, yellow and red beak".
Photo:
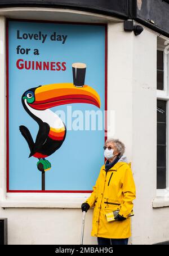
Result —
<svg viewBox="0 0 169 256"><path fill-rule="evenodd" d="M73 83L47 84L35 89L35 101L29 105L37 110L45 110L72 103L88 103L100 108L100 97L90 86L75 87Z"/></svg>

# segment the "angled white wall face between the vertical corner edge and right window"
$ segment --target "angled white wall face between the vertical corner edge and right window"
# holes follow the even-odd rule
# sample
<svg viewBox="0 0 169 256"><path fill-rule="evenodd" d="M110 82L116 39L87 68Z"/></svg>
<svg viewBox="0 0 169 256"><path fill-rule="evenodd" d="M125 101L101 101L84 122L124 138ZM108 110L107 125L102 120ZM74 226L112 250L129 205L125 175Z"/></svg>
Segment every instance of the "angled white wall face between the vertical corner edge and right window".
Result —
<svg viewBox="0 0 169 256"><path fill-rule="evenodd" d="M137 187L134 244L169 240L169 207L152 208L156 197L157 36L144 31L134 39L132 162ZM135 58L136 56L136 58ZM168 200L163 198L163 201Z"/></svg>

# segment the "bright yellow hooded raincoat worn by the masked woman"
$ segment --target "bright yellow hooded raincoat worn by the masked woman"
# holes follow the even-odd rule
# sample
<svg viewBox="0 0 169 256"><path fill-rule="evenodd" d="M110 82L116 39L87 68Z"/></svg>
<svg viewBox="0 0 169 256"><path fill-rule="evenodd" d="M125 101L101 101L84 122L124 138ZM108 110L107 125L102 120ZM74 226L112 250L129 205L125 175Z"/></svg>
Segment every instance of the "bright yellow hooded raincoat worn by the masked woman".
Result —
<svg viewBox="0 0 169 256"><path fill-rule="evenodd" d="M124 161L123 161L124 160ZM86 200L90 207L94 208L91 235L104 238L128 238L131 236L131 217L133 203L136 198L135 182L132 176L130 164L122 157L118 163L105 171L105 165L101 167L94 191ZM106 220L105 214L120 210L119 214L126 217L123 221Z"/></svg>

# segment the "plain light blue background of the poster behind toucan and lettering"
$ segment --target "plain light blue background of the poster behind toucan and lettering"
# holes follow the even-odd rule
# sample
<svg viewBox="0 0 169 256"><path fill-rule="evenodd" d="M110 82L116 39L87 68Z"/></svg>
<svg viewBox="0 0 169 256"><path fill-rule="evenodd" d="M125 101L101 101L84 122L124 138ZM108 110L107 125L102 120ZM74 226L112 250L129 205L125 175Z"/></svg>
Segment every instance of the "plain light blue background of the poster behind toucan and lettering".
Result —
<svg viewBox="0 0 169 256"><path fill-rule="evenodd" d="M23 33L47 34L40 40L17 39L17 30ZM51 41L50 35L68 35L65 44ZM37 159L29 156L28 145L20 134L19 126L25 125L35 140L37 123L25 112L21 104L23 93L33 87L52 83L73 83L72 63L86 63L85 84L100 95L101 110L105 106L105 27L104 25L59 24L9 21L9 189L41 190L41 172ZM28 55L17 54L16 48L30 48ZM39 55L33 54L39 49ZM31 61L66 62L65 71L19 70L17 59ZM52 111L64 110L68 105L57 106ZM74 110L99 110L91 104L72 104ZM104 120L103 120L104 122ZM52 164L46 172L46 190L92 190L103 156L104 129L99 131L67 131L63 145L47 158Z"/></svg>

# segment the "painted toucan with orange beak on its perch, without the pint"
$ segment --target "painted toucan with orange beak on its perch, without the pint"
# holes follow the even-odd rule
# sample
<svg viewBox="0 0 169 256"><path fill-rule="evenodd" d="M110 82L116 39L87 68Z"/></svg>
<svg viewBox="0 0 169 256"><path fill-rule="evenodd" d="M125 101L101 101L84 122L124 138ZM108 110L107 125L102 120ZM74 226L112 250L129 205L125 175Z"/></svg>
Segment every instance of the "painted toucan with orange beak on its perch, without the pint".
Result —
<svg viewBox="0 0 169 256"><path fill-rule="evenodd" d="M47 84L28 89L21 97L25 111L39 125L35 142L24 125L19 127L30 149L30 155L38 159L37 168L42 172L42 190L45 190L45 172L51 168L46 157L63 144L66 126L50 108L54 106L87 103L100 108L100 97L90 86L75 87L73 83Z"/></svg>

